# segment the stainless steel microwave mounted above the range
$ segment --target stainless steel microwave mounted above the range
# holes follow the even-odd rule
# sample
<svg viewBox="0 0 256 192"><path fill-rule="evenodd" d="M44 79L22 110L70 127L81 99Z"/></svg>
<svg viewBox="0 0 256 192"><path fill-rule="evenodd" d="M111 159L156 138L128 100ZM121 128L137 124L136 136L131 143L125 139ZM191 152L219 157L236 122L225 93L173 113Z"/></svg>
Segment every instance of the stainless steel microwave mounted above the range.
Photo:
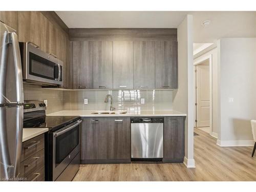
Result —
<svg viewBox="0 0 256 192"><path fill-rule="evenodd" d="M40 85L63 85L63 62L32 42L19 42L23 80Z"/></svg>

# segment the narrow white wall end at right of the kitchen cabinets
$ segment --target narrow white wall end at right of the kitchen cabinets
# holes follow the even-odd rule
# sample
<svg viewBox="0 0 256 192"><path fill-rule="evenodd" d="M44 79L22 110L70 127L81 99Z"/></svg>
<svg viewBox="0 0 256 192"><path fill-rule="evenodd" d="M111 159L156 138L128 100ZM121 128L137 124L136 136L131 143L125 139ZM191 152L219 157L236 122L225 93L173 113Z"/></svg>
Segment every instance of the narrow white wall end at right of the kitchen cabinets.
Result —
<svg viewBox="0 0 256 192"><path fill-rule="evenodd" d="M195 167L193 71L193 16L187 15L178 27L178 89L173 91L173 109L187 114L184 159L187 167Z"/></svg>

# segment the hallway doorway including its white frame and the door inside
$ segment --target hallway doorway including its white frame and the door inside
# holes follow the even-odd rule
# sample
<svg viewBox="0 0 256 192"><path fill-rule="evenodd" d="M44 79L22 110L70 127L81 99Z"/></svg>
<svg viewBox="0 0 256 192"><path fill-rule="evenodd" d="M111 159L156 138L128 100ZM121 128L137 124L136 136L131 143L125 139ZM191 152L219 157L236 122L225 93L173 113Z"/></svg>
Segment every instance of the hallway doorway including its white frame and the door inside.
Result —
<svg viewBox="0 0 256 192"><path fill-rule="evenodd" d="M194 69L195 127L211 135L211 55L194 63Z"/></svg>

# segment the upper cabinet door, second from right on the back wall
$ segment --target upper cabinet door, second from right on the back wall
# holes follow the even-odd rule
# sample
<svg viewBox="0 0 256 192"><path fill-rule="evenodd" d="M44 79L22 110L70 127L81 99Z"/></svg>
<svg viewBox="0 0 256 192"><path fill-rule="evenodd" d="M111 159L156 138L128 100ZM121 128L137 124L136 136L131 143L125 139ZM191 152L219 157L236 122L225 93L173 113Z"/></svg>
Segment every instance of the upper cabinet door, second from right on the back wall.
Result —
<svg viewBox="0 0 256 192"><path fill-rule="evenodd" d="M134 89L155 89L155 41L134 41Z"/></svg>

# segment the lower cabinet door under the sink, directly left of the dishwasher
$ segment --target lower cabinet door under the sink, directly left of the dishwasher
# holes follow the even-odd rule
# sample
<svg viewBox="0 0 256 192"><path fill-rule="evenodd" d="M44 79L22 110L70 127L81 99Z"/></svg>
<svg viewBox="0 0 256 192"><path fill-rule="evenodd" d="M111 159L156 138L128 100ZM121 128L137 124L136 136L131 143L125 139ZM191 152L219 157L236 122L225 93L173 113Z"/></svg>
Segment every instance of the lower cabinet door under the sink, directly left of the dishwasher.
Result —
<svg viewBox="0 0 256 192"><path fill-rule="evenodd" d="M131 161L130 118L108 118L108 159Z"/></svg>

